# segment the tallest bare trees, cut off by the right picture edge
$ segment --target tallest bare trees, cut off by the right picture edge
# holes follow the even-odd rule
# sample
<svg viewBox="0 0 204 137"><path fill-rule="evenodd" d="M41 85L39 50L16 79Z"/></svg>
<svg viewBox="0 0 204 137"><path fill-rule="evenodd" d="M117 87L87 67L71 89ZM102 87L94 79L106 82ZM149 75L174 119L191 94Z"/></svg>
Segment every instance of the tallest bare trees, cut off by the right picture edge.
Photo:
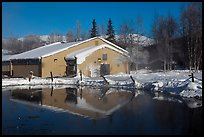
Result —
<svg viewBox="0 0 204 137"><path fill-rule="evenodd" d="M202 68L202 5L201 3L190 3L182 9L181 34L183 44L187 45L187 56L189 69Z"/></svg>

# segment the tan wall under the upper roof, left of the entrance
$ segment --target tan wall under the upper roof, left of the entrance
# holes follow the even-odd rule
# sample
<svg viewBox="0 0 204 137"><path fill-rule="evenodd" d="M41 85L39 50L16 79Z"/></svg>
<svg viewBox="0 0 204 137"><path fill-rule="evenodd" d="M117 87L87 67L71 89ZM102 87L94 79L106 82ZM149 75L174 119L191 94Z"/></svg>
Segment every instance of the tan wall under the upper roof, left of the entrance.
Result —
<svg viewBox="0 0 204 137"><path fill-rule="evenodd" d="M42 77L49 77L50 72L53 73L53 76L65 76L67 65L64 60L64 57L67 54L70 54L76 50L80 50L94 45L101 45L101 44L106 44L106 43L97 38L97 39L93 39L88 42L82 43L80 45L77 45L75 47L69 48L68 50L56 53L54 55L43 57L42 58ZM57 61L54 62L54 59L57 59Z"/></svg>

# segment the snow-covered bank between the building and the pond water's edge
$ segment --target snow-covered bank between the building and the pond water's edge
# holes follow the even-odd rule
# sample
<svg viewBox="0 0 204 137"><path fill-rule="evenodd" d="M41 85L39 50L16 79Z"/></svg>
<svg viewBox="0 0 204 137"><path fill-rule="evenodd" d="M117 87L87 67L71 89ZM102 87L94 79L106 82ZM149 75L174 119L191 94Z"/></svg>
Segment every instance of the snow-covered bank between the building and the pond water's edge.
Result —
<svg viewBox="0 0 204 137"><path fill-rule="evenodd" d="M194 82L190 78L189 70L174 70L169 72L152 72L148 70L140 70L131 72L130 74L107 75L105 79L108 81L108 86L112 88L130 89L136 88L153 92L168 92L174 95L180 95L186 98L201 98L202 99L202 71L195 72ZM133 80L130 78L133 77ZM2 90L4 88L15 88L16 86L49 86L49 85L81 85L101 87L105 86L106 82L101 77L88 78L39 78L33 77L29 82L28 78L4 78L2 79Z"/></svg>

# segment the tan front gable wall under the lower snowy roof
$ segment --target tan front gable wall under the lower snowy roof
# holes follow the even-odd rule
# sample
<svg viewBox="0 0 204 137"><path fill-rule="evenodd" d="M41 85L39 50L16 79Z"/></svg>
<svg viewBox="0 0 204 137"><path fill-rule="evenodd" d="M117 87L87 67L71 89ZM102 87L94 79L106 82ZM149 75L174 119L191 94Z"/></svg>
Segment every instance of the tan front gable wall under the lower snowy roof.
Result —
<svg viewBox="0 0 204 137"><path fill-rule="evenodd" d="M107 54L107 60L102 59L103 54ZM85 76L96 77L100 76L101 64L110 64L110 74L128 73L128 64L121 61L123 56L109 48L103 48L86 57L86 60L78 65L78 71L82 70L82 74ZM98 61L98 58L101 58L101 61Z"/></svg>

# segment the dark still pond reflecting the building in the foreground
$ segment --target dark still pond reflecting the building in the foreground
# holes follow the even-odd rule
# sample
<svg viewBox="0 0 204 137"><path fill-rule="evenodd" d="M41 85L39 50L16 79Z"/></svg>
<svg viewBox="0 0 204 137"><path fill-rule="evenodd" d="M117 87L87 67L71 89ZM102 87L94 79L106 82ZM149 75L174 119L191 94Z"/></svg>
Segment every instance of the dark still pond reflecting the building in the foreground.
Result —
<svg viewBox="0 0 204 137"><path fill-rule="evenodd" d="M200 134L202 107L160 92L107 87L2 89L2 133Z"/></svg>

